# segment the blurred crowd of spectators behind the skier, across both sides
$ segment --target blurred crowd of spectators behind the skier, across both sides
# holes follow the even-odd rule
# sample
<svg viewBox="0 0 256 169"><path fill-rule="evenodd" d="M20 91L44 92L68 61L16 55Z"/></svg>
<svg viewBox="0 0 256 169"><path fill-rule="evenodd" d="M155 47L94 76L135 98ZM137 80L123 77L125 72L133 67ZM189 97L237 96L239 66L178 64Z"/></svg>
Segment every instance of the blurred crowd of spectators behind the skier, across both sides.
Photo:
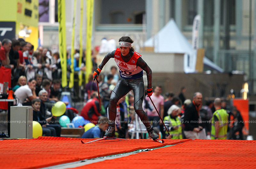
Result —
<svg viewBox="0 0 256 169"><path fill-rule="evenodd" d="M45 136L60 136L61 127L52 116L51 106L60 101L61 86L60 56L52 54L48 48L34 46L23 39L4 39L0 43L1 66L12 70L12 90L18 99L17 105L32 106L33 120L39 121ZM85 71L85 57L83 64L78 66L79 50L74 55L74 70ZM94 67L97 67L95 57L92 58ZM68 64L71 64L67 57ZM70 68L68 67L69 71ZM94 70L94 69L93 69ZM90 71L90 70L87 70ZM108 103L111 92L119 80L117 68L112 66L109 74L100 74L99 92L96 83L92 81L84 85L84 106L76 115L84 117L96 126L84 133L84 138L103 137L107 129ZM151 100L143 99L143 109L147 113L152 126L164 139L243 139L244 127L242 116L236 107L227 107L225 100L215 98L205 100L196 92L191 99L186 99L186 87L182 87L177 96L173 92L162 95L162 87L154 86ZM101 107L100 107L101 103ZM66 103L68 105L68 103ZM116 137L131 138L135 123L140 122L133 108L133 93L129 92L117 103ZM223 122L227 121L227 122ZM232 121L239 121L232 123ZM165 129L166 126L167 130ZM239 133L239 134L237 134ZM169 135L170 134L170 135ZM140 133L140 138L145 138Z"/></svg>

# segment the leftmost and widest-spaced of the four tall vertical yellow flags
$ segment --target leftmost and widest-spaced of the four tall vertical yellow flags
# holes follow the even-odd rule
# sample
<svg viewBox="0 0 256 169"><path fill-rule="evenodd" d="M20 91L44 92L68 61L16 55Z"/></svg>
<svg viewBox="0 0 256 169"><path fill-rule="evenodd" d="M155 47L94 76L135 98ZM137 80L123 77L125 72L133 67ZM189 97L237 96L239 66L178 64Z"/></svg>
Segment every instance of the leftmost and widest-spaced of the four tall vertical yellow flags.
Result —
<svg viewBox="0 0 256 169"><path fill-rule="evenodd" d="M58 21L59 21L59 51L60 65L62 71L61 85L68 85L67 79L67 49L66 49L66 12L65 0L58 0Z"/></svg>

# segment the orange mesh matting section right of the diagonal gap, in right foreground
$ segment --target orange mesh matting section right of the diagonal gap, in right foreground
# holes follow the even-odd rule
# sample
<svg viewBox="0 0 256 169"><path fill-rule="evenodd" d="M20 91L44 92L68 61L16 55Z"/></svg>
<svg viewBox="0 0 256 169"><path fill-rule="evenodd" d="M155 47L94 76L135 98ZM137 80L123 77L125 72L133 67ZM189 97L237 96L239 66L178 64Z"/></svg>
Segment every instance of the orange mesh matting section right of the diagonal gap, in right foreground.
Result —
<svg viewBox="0 0 256 169"><path fill-rule="evenodd" d="M171 147L76 167L82 168L256 168L256 141L194 140Z"/></svg>

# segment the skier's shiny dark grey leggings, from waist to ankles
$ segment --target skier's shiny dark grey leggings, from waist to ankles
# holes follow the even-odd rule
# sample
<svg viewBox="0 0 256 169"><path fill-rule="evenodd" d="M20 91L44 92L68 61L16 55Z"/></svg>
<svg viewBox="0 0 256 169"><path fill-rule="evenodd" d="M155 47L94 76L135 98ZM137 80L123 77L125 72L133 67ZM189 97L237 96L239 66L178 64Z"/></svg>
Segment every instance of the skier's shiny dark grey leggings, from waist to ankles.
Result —
<svg viewBox="0 0 256 169"><path fill-rule="evenodd" d="M148 132L152 131L153 128L148 119L148 115L142 109L142 101L144 96L144 81L143 77L137 79L123 79L122 77L117 82L116 87L110 96L110 101L108 105L108 116L109 125L115 124L116 119L116 103L119 99L125 96L129 91L133 91L134 100L133 107L135 112L140 117L140 120L145 125Z"/></svg>

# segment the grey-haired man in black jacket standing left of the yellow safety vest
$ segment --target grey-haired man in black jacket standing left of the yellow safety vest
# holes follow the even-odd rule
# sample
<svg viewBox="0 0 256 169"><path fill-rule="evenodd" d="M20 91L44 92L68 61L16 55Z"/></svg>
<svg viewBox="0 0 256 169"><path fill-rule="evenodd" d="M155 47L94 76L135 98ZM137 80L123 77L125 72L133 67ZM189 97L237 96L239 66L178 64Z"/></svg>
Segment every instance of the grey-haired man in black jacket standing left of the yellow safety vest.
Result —
<svg viewBox="0 0 256 169"><path fill-rule="evenodd" d="M199 126L200 114L199 110L202 106L202 94L200 92L196 92L193 97L193 101L191 104L186 107L184 112L184 134L186 138L198 139L199 132L203 129Z"/></svg>

